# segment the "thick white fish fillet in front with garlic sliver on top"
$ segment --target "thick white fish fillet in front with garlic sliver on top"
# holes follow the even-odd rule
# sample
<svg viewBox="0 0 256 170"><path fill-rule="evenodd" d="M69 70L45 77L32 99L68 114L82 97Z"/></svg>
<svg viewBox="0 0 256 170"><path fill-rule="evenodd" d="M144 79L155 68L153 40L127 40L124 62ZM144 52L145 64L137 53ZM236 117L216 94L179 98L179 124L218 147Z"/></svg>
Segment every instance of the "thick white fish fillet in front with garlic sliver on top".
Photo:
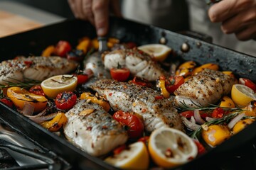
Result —
<svg viewBox="0 0 256 170"><path fill-rule="evenodd" d="M63 128L65 137L95 157L107 154L128 139L122 125L95 103L80 100L65 115L68 118Z"/></svg>

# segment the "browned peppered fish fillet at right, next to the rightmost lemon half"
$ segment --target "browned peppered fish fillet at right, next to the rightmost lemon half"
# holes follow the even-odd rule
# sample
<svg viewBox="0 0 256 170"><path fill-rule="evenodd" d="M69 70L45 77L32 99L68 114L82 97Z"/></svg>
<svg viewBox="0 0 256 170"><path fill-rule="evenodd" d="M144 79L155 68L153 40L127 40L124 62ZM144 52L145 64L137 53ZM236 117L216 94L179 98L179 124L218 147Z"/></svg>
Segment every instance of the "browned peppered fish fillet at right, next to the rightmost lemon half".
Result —
<svg viewBox="0 0 256 170"><path fill-rule="evenodd" d="M230 93L235 78L222 72L205 69L188 79L174 92L176 106L208 106Z"/></svg>

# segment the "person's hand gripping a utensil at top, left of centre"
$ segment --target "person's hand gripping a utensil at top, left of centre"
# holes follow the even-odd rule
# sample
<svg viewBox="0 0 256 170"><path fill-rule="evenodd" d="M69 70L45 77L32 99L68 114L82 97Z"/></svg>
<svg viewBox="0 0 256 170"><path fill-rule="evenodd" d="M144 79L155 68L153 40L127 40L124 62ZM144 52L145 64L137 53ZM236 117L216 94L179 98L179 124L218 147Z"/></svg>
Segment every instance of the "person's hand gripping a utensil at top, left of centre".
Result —
<svg viewBox="0 0 256 170"><path fill-rule="evenodd" d="M68 0L68 3L75 17L90 21L99 36L107 34L110 11L115 16L121 16L118 0Z"/></svg>

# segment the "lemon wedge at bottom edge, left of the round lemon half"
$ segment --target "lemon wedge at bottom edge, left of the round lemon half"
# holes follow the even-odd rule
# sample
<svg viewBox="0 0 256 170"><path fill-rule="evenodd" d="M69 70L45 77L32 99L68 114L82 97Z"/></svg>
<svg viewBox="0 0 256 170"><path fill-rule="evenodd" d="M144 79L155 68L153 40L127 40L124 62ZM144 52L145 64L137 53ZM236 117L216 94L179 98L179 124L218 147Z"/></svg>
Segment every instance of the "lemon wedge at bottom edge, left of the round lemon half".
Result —
<svg viewBox="0 0 256 170"><path fill-rule="evenodd" d="M122 169L147 169L149 153L144 142L135 142L119 154L107 157L105 162Z"/></svg>

